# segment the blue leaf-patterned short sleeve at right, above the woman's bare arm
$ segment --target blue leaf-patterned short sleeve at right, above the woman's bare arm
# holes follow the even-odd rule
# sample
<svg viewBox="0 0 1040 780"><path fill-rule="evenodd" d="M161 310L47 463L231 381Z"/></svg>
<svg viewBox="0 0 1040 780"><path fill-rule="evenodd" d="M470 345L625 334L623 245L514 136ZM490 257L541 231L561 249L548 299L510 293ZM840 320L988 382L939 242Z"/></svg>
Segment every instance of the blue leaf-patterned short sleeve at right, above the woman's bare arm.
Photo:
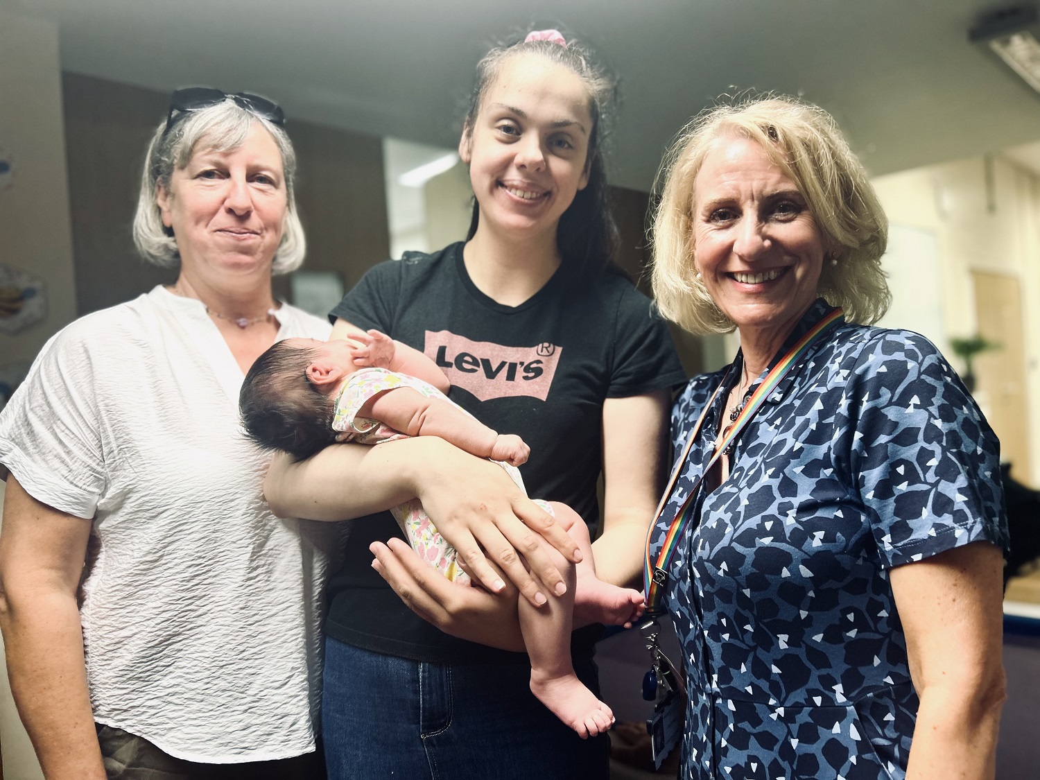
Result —
<svg viewBox="0 0 1040 780"><path fill-rule="evenodd" d="M885 332L854 374L851 464L881 565L980 540L1006 550L999 443L938 350L922 336Z"/></svg>

